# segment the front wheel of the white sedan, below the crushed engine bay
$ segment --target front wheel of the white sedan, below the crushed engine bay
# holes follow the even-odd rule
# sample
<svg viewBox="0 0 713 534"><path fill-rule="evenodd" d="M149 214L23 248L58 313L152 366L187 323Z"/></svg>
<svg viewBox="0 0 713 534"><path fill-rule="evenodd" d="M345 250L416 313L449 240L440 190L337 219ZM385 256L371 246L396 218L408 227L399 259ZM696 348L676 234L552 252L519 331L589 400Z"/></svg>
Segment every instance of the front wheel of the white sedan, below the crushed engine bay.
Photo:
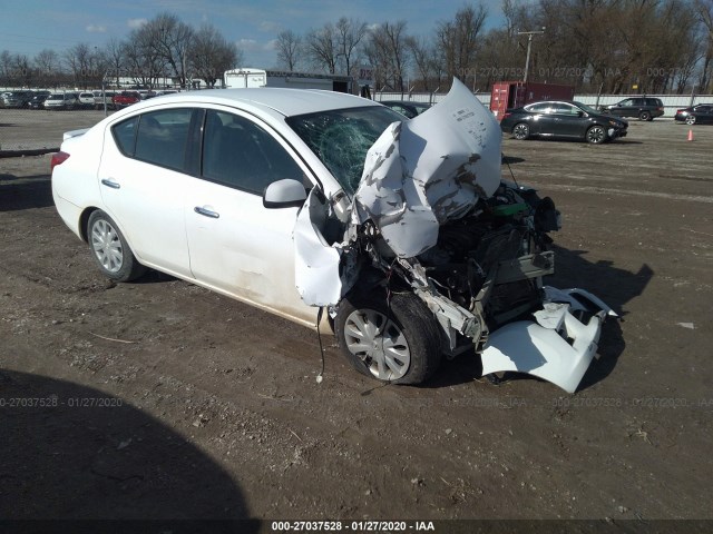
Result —
<svg viewBox="0 0 713 534"><path fill-rule="evenodd" d="M437 319L411 293L352 293L339 306L334 329L340 349L360 373L392 384L421 384L441 360ZM385 335L384 335L385 333Z"/></svg>

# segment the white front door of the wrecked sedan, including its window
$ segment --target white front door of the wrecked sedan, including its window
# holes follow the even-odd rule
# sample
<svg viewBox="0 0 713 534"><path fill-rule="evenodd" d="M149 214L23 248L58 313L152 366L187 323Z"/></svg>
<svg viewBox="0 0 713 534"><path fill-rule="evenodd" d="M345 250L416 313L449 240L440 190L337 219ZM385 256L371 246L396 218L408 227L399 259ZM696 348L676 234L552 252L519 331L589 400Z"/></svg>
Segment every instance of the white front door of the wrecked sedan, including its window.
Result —
<svg viewBox="0 0 713 534"><path fill-rule="evenodd" d="M295 287L292 233L299 208L267 209L263 192L307 169L279 136L236 111L208 109L201 177L187 196L191 270L202 284L277 315L314 325L316 308Z"/></svg>

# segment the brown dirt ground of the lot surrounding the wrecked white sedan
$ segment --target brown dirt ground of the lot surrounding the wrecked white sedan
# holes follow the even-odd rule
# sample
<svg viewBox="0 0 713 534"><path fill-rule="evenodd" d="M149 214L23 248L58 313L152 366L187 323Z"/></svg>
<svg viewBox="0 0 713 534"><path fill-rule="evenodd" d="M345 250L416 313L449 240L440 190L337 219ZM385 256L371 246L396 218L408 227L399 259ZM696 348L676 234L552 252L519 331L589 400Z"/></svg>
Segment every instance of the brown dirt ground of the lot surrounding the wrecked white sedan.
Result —
<svg viewBox="0 0 713 534"><path fill-rule="evenodd" d="M713 520L713 127L687 132L504 142L504 175L563 212L548 284L622 316L575 395L491 385L472 355L381 386L328 335L318 384L316 333L155 273L107 281L49 156L0 159L0 516Z"/></svg>

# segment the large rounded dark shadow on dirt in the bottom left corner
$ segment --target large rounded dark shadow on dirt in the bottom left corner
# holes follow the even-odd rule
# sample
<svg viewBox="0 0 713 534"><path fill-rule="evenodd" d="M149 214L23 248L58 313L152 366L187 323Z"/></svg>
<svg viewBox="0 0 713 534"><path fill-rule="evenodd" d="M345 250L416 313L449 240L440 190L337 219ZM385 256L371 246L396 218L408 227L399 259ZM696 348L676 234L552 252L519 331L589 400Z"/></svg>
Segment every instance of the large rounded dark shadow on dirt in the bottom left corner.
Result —
<svg viewBox="0 0 713 534"><path fill-rule="evenodd" d="M225 471L126 400L10 370L0 392L3 520L248 517Z"/></svg>

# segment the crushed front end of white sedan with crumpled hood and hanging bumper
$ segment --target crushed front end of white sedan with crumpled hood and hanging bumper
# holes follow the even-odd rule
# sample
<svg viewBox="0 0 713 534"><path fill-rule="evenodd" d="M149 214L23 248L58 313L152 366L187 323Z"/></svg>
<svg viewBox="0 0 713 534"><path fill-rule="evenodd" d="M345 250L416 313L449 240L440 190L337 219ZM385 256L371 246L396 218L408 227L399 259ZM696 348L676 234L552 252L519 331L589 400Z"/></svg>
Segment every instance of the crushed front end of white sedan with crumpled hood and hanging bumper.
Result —
<svg viewBox="0 0 713 534"><path fill-rule="evenodd" d="M500 145L492 113L455 80L446 100L374 142L350 206L310 192L294 234L296 286L332 317L350 293L412 293L438 322L443 354L475 347L484 374L529 373L573 393L615 314L587 291L544 286L559 212L501 180Z"/></svg>

